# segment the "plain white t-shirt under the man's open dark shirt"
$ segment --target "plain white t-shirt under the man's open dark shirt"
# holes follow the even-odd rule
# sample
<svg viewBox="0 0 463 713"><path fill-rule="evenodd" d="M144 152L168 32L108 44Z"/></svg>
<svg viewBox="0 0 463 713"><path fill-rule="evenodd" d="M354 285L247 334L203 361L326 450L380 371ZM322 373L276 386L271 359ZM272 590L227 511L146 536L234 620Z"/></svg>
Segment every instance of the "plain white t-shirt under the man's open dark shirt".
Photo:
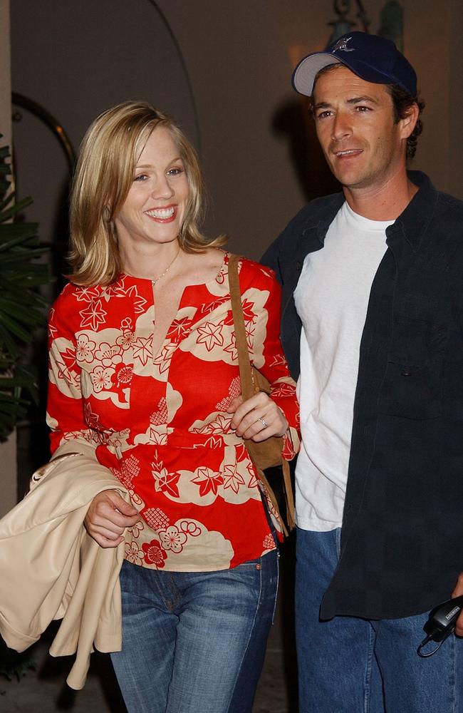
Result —
<svg viewBox="0 0 463 713"><path fill-rule="evenodd" d="M342 522L360 339L393 222L369 220L345 202L323 249L306 256L294 291L303 327L296 523L304 530L333 530Z"/></svg>

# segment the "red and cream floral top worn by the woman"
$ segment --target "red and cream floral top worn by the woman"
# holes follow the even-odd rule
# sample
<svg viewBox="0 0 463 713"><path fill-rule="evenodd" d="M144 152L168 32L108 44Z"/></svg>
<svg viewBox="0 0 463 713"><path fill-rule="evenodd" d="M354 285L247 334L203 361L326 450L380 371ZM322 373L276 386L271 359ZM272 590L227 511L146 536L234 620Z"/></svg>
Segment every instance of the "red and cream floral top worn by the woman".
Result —
<svg viewBox="0 0 463 713"><path fill-rule="evenodd" d="M279 341L279 284L243 260L240 285L250 353L288 419L283 456L293 458L298 405ZM226 411L241 392L227 253L212 282L184 289L159 354L154 320L149 279L66 285L49 319L52 452L90 445L128 488L142 515L128 533L130 562L211 571L258 558L275 544Z"/></svg>

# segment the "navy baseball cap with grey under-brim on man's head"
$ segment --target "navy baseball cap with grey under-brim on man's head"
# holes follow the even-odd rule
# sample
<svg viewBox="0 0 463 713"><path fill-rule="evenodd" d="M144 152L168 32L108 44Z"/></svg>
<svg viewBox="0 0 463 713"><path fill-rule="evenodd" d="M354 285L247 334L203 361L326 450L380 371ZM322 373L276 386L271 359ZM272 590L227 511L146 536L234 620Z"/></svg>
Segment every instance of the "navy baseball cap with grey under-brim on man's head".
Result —
<svg viewBox="0 0 463 713"><path fill-rule="evenodd" d="M410 62L395 44L378 35L349 32L324 52L301 59L293 72L293 87L311 96L316 74L329 64L345 64L354 74L375 84L398 84L410 94L417 91L417 76Z"/></svg>

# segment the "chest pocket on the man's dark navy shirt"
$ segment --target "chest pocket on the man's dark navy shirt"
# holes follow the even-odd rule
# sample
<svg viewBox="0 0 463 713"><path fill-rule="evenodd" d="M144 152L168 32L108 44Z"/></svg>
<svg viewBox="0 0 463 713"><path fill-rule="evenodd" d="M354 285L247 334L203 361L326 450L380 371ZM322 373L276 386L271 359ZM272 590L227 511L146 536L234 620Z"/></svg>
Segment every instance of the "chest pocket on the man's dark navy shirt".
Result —
<svg viewBox="0 0 463 713"><path fill-rule="evenodd" d="M379 411L404 419L442 414L442 371L447 327L396 317Z"/></svg>

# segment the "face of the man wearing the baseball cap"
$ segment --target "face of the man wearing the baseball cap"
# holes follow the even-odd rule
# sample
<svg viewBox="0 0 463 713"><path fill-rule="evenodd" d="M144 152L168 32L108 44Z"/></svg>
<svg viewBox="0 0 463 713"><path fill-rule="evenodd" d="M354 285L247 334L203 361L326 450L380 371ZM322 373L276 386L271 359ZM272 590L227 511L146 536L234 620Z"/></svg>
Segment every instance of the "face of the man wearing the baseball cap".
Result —
<svg viewBox="0 0 463 713"><path fill-rule="evenodd" d="M384 84L347 67L322 74L313 94L316 131L328 165L348 189L380 188L405 168L405 120L394 123Z"/></svg>

